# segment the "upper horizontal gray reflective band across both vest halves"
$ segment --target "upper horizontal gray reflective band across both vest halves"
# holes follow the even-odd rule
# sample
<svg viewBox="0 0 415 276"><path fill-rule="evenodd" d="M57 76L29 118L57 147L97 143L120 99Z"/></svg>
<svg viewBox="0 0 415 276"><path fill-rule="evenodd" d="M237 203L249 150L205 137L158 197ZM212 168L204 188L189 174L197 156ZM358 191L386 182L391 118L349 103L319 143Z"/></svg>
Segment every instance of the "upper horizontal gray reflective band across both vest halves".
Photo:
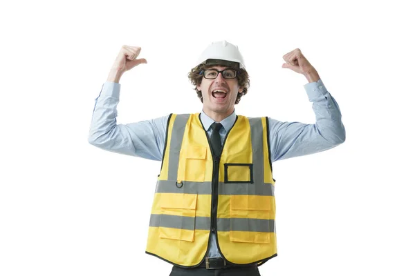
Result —
<svg viewBox="0 0 415 276"><path fill-rule="evenodd" d="M181 181L183 186L176 185L176 181L158 180L156 193L178 193L210 195L212 183ZM181 188L178 188L181 187ZM227 183L219 182L219 195L274 195L274 185L268 183Z"/></svg>

